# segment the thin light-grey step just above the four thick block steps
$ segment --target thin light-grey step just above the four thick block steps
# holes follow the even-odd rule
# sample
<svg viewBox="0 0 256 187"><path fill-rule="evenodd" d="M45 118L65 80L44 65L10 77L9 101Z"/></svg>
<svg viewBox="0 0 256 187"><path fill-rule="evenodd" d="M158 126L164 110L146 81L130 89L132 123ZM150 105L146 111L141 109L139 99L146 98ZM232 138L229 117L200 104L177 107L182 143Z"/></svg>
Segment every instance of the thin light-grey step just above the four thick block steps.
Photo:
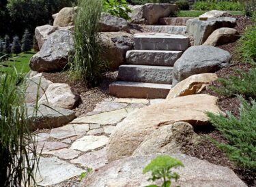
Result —
<svg viewBox="0 0 256 187"><path fill-rule="evenodd" d="M150 33L170 33L170 34L174 34L174 35L186 34L186 26L145 25L144 29L145 29L145 31L150 32Z"/></svg>

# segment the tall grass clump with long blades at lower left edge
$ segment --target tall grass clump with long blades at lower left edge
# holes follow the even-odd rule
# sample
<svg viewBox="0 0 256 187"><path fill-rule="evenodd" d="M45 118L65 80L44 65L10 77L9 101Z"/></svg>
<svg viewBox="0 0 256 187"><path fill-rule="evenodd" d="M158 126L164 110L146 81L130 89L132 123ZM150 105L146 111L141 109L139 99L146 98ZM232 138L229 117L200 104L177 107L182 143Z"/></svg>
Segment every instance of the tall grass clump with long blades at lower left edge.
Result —
<svg viewBox="0 0 256 187"><path fill-rule="evenodd" d="M22 79L15 73L0 74L0 186L35 186L35 146Z"/></svg>

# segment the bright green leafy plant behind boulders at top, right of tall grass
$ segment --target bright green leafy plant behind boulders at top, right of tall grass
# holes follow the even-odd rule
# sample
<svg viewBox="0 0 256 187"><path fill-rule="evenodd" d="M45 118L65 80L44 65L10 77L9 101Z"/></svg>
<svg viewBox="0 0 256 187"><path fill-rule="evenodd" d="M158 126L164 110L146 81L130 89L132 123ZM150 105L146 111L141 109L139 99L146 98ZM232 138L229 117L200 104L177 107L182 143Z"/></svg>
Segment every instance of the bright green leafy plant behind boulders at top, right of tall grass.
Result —
<svg viewBox="0 0 256 187"><path fill-rule="evenodd" d="M128 7L126 0L104 0L103 12L107 12L113 16L129 20L129 12L132 12Z"/></svg>

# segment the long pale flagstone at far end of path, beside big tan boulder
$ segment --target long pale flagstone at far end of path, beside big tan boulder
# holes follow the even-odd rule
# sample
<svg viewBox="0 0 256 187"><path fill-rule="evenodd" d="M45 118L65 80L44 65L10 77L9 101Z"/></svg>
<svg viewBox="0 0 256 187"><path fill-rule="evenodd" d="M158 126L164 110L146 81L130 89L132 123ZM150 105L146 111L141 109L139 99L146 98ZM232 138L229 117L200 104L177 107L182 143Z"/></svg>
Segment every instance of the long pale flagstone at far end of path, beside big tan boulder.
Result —
<svg viewBox="0 0 256 187"><path fill-rule="evenodd" d="M134 111L132 108L117 109L111 112L104 112L93 116L85 116L76 118L71 123L96 123L96 124L117 124L122 119L126 118L130 112Z"/></svg>

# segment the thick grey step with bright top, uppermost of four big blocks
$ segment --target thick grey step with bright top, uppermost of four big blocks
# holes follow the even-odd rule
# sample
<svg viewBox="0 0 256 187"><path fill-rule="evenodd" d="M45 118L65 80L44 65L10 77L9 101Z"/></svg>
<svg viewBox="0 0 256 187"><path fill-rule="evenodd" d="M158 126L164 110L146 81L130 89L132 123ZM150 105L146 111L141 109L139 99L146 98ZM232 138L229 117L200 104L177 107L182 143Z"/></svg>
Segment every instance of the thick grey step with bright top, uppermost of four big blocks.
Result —
<svg viewBox="0 0 256 187"><path fill-rule="evenodd" d="M189 38L169 33L137 33L133 37L135 50L180 50L189 46Z"/></svg>

